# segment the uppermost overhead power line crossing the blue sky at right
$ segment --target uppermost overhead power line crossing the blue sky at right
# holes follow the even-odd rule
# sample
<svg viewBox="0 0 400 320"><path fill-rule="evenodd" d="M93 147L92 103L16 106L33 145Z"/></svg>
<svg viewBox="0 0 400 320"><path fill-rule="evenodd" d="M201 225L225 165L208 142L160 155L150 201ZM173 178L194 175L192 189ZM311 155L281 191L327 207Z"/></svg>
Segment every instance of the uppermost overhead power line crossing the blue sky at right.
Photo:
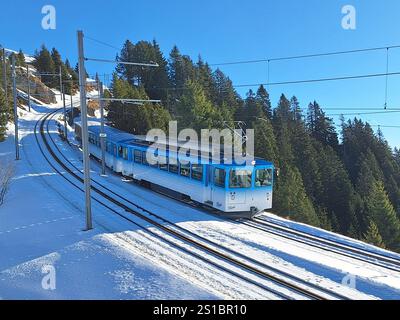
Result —
<svg viewBox="0 0 400 320"><path fill-rule="evenodd" d="M255 59L255 60L221 62L221 63L212 63L212 64L210 64L210 66L222 66L222 65L249 64L249 63L261 63L261 62L282 61L282 60L305 59L305 58L333 56L333 55L350 54L350 53L367 52L367 51L378 51L378 50L385 50L385 49L389 50L389 49L395 49L395 48L400 48L400 45L393 45L393 46L386 46L386 47L372 47L372 48L363 48L363 49L354 49L354 50L345 50L345 51L332 51L332 52L297 55L297 56L263 58L263 59Z"/></svg>

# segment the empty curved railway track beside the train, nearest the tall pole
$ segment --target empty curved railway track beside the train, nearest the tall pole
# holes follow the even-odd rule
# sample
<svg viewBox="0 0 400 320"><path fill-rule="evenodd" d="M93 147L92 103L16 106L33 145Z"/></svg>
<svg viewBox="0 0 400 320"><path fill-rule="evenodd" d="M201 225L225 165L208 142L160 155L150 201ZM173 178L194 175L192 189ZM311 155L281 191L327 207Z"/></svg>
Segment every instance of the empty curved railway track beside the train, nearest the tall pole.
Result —
<svg viewBox="0 0 400 320"><path fill-rule="evenodd" d="M82 183L83 179L80 176L81 171L79 168L77 168L75 165L73 165L68 159L67 162L69 162L70 165L73 166L75 170L79 172L74 172L71 168L69 168L54 152L54 150L51 148L49 141L47 140L46 133L44 132L44 125L47 121L47 134L51 138L51 135L49 135L49 118L53 117L58 110L51 112L47 115L44 115L41 119L38 120L35 126L35 137L37 140L37 143L39 145L40 151L47 160L47 162L50 164L50 166L58 173L60 174L65 180L68 181L68 183L72 184L74 187L77 189L83 191L82 189ZM56 168L56 166L52 163L52 161L49 159L49 157L46 156L43 148L40 145L40 141L38 138L38 133L37 133L37 127L39 126L39 132L40 132L40 137L42 138L43 144L52 157L52 159L59 165L65 172L61 172L59 169ZM52 138L51 138L52 139ZM53 144L55 142L52 140ZM58 147L57 147L58 149ZM60 150L58 150L60 154ZM76 181L78 181L78 184L75 183L75 181L71 181L68 179L68 176L73 177ZM207 240L205 238L202 238L198 235L195 235L194 233L177 226L173 224L172 222L160 217L159 215L155 214L154 212L150 212L146 210L145 208L142 208L138 206L137 204L129 201L129 199L123 198L120 195L117 195L115 192L107 188L106 186L101 185L97 181L93 180L92 184L92 190L96 194L96 196L92 195L92 198L94 201L98 202L100 205L106 207L113 213L119 215L125 220L128 220L132 223L134 223L137 227L141 228L142 230L152 234L153 236L157 238L161 238L163 241L169 243L170 245L174 247L178 247L179 250L183 250L184 252L190 254L191 256L194 256L206 263L212 264L214 267L217 267L220 270L223 270L224 272L229 273L230 275L236 276L240 278L241 280L244 280L248 283L251 283L263 290L266 290L270 293L275 294L277 297L282 298L282 299L292 299L293 297L280 292L279 290L272 289L271 287L267 287L265 284L263 284L263 281L269 281L277 285L278 287L285 289L285 290L290 290L293 293L296 293L299 295L301 298L307 298L307 299L318 299L318 300L325 300L325 299L349 299L348 297L338 294L332 290L329 290L327 288L323 288L321 286L309 283L304 281L303 279L297 278L293 275L290 274L285 274L284 272L280 270L274 270L270 266L267 266L261 262L258 262L254 259L248 258L244 255L241 255L237 252L234 252L233 250L229 248L225 248L219 244L213 243L210 240ZM108 192L108 193L106 193ZM110 194L113 194L114 196L117 196L120 200L115 199L113 196L110 196ZM98 199L98 196L100 196L101 199ZM216 263L215 261L207 258L204 255L198 254L194 252L193 250L188 250L185 247L177 245L174 241L171 241L170 239L166 239L165 237L160 236L160 234L155 233L151 230L149 230L147 227L143 226L142 224L139 224L136 221L133 221L129 217L125 216L124 214L121 214L114 208L112 208L111 205L116 205L119 208L122 208L125 212L135 216L136 218L139 218L141 221L146 222L154 227L156 227L158 230L161 230L165 234L168 234L169 236L172 236L175 239L181 240L182 242L189 244L198 250L201 250L202 252L207 253L208 255L217 258L225 263L228 263L229 265L234 266L237 269L243 270L246 273L246 276L242 273L238 273L237 271L232 270L231 268L227 268L223 266L222 264ZM133 209L131 206L134 206L136 209ZM142 211L142 212L140 212ZM257 277L258 280L254 280L254 276ZM286 277L286 278L285 278Z"/></svg>

